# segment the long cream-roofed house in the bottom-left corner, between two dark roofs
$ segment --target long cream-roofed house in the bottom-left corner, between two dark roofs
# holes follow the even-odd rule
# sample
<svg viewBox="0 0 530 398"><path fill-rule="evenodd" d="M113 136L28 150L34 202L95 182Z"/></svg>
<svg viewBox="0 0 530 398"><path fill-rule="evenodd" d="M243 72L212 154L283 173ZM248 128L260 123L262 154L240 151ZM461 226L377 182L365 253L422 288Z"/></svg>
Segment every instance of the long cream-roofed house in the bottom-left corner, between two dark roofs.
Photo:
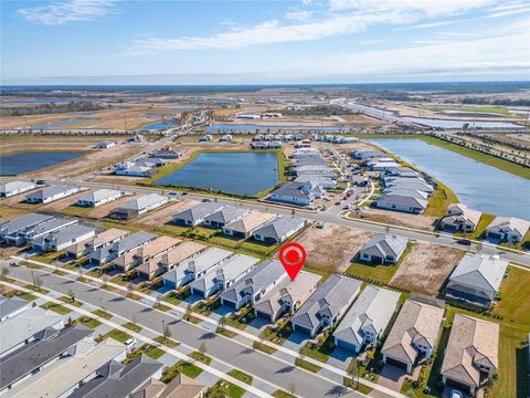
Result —
<svg viewBox="0 0 530 398"><path fill-rule="evenodd" d="M126 347L113 338L95 344L81 342L71 355L60 357L19 387L11 389L6 397L57 397L66 398L80 385L96 376L97 369L110 360L126 358Z"/></svg>

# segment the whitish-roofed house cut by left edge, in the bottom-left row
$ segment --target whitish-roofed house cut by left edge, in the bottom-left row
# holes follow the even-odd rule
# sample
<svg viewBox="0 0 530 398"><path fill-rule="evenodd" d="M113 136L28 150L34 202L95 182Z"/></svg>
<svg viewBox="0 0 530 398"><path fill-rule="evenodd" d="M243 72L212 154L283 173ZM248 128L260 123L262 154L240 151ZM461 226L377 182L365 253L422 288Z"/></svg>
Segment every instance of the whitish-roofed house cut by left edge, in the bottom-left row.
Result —
<svg viewBox="0 0 530 398"><path fill-rule="evenodd" d="M60 331L63 317L52 311L31 307L2 321L0 334L0 358L33 342L46 328Z"/></svg>

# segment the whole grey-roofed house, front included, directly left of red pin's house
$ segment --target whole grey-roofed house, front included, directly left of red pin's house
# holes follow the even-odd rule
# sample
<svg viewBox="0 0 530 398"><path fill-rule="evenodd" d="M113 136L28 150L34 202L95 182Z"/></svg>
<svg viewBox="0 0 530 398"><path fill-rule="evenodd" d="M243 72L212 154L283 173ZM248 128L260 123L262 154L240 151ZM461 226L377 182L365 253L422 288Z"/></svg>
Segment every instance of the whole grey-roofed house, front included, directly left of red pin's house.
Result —
<svg viewBox="0 0 530 398"><path fill-rule="evenodd" d="M222 292L221 304L240 310L245 304L255 303L285 277L287 273L279 261L266 260Z"/></svg>

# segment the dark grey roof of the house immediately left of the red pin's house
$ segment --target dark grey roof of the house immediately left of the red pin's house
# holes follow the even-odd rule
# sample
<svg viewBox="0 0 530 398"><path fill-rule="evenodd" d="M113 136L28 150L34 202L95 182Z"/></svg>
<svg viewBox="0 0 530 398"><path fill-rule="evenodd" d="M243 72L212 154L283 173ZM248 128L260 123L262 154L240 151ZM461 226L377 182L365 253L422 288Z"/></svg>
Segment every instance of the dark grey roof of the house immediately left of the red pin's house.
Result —
<svg viewBox="0 0 530 398"><path fill-rule="evenodd" d="M232 287L221 293L221 297L231 302L237 302L245 292L256 294L286 275L284 266L279 261L266 260L233 284Z"/></svg>

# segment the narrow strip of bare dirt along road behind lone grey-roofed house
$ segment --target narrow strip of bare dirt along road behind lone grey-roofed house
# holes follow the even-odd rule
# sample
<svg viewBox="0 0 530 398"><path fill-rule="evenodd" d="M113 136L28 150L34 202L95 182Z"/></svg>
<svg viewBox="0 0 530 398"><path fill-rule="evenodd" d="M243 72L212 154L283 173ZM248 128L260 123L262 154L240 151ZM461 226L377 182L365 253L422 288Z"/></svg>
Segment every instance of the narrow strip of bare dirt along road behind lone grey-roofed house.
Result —
<svg viewBox="0 0 530 398"><path fill-rule="evenodd" d="M350 218L362 218L375 222L391 223L399 227L415 228L425 231L434 230L435 217L427 217L423 214L409 214L405 212L373 209L363 207L362 211L351 211Z"/></svg>

